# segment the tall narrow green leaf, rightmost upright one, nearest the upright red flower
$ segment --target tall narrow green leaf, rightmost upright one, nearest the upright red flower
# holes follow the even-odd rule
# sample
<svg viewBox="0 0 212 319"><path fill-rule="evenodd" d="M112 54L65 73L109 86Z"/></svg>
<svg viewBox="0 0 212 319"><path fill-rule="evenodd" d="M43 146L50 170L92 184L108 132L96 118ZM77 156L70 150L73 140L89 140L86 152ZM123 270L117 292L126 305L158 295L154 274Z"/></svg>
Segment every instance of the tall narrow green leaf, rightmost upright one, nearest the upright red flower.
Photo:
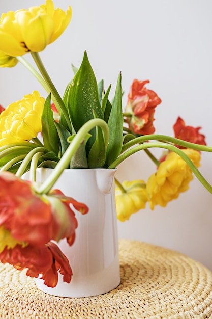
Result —
<svg viewBox="0 0 212 319"><path fill-rule="evenodd" d="M122 76L119 74L113 99L112 109L108 120L108 127L110 131L109 143L106 150L107 168L122 151L123 143L123 114L122 114Z"/></svg>

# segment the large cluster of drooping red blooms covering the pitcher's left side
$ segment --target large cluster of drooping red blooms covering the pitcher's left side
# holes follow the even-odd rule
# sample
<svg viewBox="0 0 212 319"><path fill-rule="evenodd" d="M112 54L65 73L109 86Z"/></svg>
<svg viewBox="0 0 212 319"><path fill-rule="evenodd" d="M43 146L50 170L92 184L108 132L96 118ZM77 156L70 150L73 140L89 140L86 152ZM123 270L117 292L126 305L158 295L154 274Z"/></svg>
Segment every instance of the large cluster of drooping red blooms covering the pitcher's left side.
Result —
<svg viewBox="0 0 212 319"><path fill-rule="evenodd" d="M43 274L45 284L54 287L57 271L70 282L72 271L68 259L51 243L75 239L77 220L70 204L82 214L88 207L61 191L37 194L33 183L10 172L0 174L0 261L27 270L27 275Z"/></svg>

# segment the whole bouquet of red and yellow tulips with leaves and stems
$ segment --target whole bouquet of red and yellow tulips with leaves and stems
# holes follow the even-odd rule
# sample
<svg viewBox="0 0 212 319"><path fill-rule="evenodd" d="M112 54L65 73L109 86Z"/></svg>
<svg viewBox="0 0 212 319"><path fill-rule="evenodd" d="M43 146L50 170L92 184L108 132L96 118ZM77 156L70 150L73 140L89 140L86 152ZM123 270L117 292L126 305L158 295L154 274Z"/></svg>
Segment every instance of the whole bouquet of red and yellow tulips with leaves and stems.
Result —
<svg viewBox="0 0 212 319"><path fill-rule="evenodd" d="M146 88L149 81L135 79L123 112L122 75L114 96L111 86L97 82L87 52L63 96L57 92L39 52L67 28L72 16L45 5L3 13L0 19L0 66L22 63L47 92L27 94L0 111L0 261L26 275L42 276L49 287L57 285L58 271L65 282L72 278L71 265L55 242L66 238L71 246L77 228L76 211L89 215L86 203L52 189L64 170L115 169L135 152L145 151L156 171L144 180L116 184L116 209L120 221L145 208L166 206L189 188L193 174L212 193L198 170L206 146L200 127L187 126L178 117L175 137L155 134L154 114L159 96ZM33 57L35 66L24 58ZM162 148L157 159L150 151ZM50 168L43 182L38 168ZM23 175L28 172L28 180ZM80 188L80 185L75 185ZM70 205L72 205L70 207ZM54 242L52 242L54 241Z"/></svg>

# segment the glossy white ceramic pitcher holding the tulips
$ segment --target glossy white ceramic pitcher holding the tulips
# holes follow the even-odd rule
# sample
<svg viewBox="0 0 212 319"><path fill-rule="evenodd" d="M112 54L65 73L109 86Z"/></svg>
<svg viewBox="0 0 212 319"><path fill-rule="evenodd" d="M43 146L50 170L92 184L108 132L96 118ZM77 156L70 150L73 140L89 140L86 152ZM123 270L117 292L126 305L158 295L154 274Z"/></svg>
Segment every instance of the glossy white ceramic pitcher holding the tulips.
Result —
<svg viewBox="0 0 212 319"><path fill-rule="evenodd" d="M48 168L38 169L38 180L44 181L51 172ZM55 183L53 189L85 203L89 212L81 215L75 211L78 227L71 247L66 240L57 243L70 261L71 282L63 282L58 274L58 284L51 288L37 278L40 290L60 297L88 297L107 293L120 283L115 172L116 169L67 169Z"/></svg>

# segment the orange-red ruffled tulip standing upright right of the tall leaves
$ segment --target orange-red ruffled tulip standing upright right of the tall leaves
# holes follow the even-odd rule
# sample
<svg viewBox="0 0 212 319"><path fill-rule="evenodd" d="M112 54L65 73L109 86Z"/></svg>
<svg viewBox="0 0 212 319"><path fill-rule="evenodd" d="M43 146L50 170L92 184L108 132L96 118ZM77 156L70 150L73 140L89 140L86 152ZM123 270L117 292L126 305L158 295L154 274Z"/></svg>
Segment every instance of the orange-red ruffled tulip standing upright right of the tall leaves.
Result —
<svg viewBox="0 0 212 319"><path fill-rule="evenodd" d="M131 117L127 118L129 128L135 134L145 135L153 134L155 127L153 126L155 108L161 103L158 95L146 89L144 86L146 81L138 81L134 79L128 94L126 113L130 113Z"/></svg>

